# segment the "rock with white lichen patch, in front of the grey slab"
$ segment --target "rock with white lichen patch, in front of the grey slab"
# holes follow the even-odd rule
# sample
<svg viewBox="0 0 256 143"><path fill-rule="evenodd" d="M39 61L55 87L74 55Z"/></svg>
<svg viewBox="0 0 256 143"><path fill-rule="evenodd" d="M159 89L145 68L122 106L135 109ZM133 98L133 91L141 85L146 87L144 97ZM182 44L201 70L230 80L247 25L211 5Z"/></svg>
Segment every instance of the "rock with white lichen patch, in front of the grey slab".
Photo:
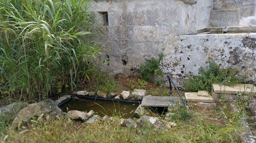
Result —
<svg viewBox="0 0 256 143"><path fill-rule="evenodd" d="M137 125L139 127L146 126L147 128L152 128L155 131L161 129L162 124L162 121L157 117L142 116L137 120Z"/></svg>

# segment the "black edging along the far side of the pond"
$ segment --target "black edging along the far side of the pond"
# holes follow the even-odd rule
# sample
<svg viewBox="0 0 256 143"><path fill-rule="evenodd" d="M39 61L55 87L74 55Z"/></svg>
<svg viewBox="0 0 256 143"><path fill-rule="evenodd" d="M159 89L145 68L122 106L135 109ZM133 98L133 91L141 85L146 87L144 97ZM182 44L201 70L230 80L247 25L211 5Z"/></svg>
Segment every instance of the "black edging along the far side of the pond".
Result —
<svg viewBox="0 0 256 143"><path fill-rule="evenodd" d="M97 99L97 100L106 100L106 101L113 101L113 102L126 102L126 103L133 103L133 104L141 104L141 101L137 101L137 100L102 98L99 96L88 96L88 95L74 95L74 96L79 97L79 98L84 98L84 99Z"/></svg>

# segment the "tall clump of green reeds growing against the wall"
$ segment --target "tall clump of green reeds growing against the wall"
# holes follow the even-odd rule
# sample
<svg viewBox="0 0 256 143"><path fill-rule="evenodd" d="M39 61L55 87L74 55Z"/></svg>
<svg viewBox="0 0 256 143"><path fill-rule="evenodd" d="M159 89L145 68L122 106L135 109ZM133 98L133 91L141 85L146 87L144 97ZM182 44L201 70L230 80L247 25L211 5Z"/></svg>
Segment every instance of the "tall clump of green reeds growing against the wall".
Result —
<svg viewBox="0 0 256 143"><path fill-rule="evenodd" d="M0 2L0 90L4 98L47 98L74 90L103 45L87 0ZM95 30L96 29L96 30ZM59 90L61 91L61 90ZM17 96L18 95L18 96Z"/></svg>

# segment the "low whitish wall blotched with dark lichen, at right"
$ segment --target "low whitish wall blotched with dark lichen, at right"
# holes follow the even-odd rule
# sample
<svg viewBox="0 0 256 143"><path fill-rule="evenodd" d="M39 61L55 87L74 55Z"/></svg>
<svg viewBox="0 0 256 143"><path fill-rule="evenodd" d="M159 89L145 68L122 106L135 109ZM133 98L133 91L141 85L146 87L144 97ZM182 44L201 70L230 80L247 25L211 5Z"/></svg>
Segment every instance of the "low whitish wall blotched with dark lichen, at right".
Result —
<svg viewBox="0 0 256 143"><path fill-rule="evenodd" d="M186 74L199 74L213 60L222 67L231 66L248 76L256 77L256 33L198 34L169 36L161 68L172 74L177 86L182 87Z"/></svg>

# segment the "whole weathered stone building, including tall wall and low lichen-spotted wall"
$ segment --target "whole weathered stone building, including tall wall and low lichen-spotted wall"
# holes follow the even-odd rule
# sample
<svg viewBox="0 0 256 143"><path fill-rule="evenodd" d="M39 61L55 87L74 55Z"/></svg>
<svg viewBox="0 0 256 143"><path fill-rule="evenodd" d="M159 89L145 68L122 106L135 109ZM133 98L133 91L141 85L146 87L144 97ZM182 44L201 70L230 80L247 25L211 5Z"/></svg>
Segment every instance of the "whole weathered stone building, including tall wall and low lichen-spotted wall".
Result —
<svg viewBox="0 0 256 143"><path fill-rule="evenodd" d="M180 86L185 74L198 74L208 59L241 70L256 68L256 0L93 3L95 19L106 27L98 37L108 49L101 60L110 58L111 62L102 71L112 76L132 75L146 58L157 58L159 53L164 55L162 70L171 73Z"/></svg>

